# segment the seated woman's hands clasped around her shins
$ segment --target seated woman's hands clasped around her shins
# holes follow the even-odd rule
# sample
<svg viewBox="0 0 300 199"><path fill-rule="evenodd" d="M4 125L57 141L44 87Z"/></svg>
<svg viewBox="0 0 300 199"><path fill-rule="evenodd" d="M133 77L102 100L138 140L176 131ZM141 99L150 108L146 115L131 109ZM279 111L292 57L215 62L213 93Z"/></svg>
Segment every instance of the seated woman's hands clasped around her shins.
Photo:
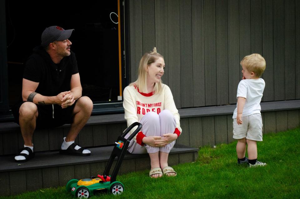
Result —
<svg viewBox="0 0 300 199"><path fill-rule="evenodd" d="M177 139L177 134L174 133L167 133L164 134L163 136L164 137L161 136L144 137L142 142L149 146L162 147Z"/></svg>

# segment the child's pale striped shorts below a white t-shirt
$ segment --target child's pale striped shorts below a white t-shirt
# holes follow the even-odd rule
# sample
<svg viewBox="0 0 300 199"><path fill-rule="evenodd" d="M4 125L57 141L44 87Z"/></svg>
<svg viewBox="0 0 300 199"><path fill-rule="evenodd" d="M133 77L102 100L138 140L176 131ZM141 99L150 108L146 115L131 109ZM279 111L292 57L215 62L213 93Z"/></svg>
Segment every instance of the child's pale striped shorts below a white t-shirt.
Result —
<svg viewBox="0 0 300 199"><path fill-rule="evenodd" d="M237 119L233 119L233 138L262 141L262 115L255 113L242 117L242 124L237 125Z"/></svg>

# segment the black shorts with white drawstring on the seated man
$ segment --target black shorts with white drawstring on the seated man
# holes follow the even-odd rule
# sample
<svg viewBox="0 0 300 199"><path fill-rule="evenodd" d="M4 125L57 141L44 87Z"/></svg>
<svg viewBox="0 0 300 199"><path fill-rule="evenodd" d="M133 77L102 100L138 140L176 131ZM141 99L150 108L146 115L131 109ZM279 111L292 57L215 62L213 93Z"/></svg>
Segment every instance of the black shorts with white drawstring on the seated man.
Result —
<svg viewBox="0 0 300 199"><path fill-rule="evenodd" d="M37 121L36 129L44 129L50 127L57 127L64 124L71 124L73 122L73 109L77 100L72 106L62 109L60 105L37 105ZM12 107L12 113L15 122L19 123L19 109L24 102L17 103ZM54 108L54 112L53 112Z"/></svg>

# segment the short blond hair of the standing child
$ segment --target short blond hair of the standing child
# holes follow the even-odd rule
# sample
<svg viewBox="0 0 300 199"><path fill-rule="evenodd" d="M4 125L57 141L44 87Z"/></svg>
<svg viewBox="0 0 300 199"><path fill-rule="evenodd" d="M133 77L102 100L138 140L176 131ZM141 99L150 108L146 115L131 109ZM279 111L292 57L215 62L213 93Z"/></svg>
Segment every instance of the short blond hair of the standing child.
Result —
<svg viewBox="0 0 300 199"><path fill-rule="evenodd" d="M240 64L249 72L254 72L256 77L262 76L262 73L266 69L266 61L260 54L247 55Z"/></svg>

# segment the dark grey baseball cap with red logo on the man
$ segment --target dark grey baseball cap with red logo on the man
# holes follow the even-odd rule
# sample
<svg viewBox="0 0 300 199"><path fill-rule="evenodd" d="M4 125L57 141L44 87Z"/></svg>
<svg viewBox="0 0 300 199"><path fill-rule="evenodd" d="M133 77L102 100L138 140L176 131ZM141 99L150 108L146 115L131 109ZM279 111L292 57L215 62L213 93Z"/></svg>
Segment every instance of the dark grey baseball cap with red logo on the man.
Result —
<svg viewBox="0 0 300 199"><path fill-rule="evenodd" d="M43 47L49 45L54 41L63 41L70 38L74 29L65 30L59 26L50 26L44 30L42 33L42 43Z"/></svg>

